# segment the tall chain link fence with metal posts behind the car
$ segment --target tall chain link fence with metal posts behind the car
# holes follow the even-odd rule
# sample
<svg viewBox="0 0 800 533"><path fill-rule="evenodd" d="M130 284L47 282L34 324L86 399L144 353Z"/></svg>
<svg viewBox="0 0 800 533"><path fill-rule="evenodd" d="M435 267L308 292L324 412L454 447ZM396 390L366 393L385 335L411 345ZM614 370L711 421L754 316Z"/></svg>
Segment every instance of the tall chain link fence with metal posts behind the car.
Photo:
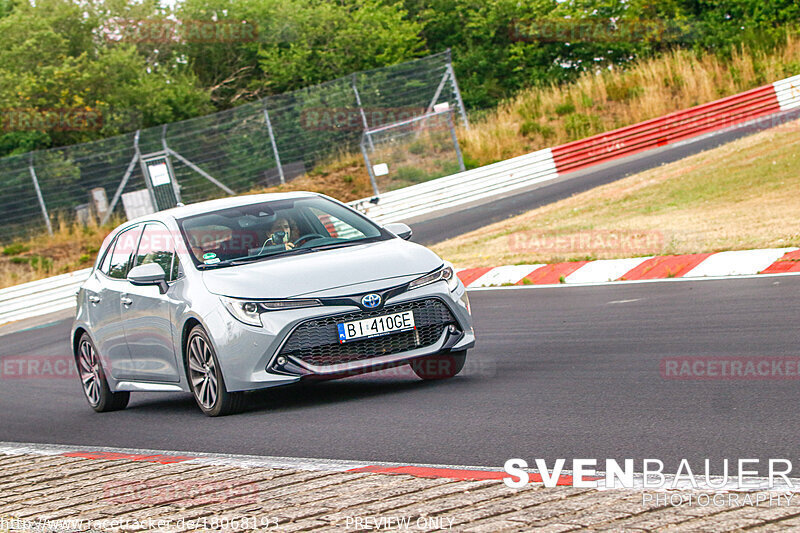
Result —
<svg viewBox="0 0 800 533"><path fill-rule="evenodd" d="M434 111L442 106L446 113ZM442 116L447 127L425 133L445 132L440 148L455 121L467 126L449 51L213 115L3 158L0 240L52 232L57 220L130 218L277 185L338 153L359 151L365 138L373 149L374 139L384 143L382 132L407 136L404 124L441 125ZM458 161L440 166L457 171Z"/></svg>

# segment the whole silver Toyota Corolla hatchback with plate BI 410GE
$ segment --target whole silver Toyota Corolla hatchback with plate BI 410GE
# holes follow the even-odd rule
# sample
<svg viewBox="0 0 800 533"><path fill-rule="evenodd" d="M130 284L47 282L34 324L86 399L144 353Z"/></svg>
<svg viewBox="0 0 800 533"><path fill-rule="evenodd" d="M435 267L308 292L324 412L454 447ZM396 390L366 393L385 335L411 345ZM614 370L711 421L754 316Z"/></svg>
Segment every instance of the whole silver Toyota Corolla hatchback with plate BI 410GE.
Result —
<svg viewBox="0 0 800 533"><path fill-rule="evenodd" d="M96 411L191 391L209 416L245 391L410 364L455 376L475 344L453 267L312 193L177 207L119 226L78 293L72 346Z"/></svg>

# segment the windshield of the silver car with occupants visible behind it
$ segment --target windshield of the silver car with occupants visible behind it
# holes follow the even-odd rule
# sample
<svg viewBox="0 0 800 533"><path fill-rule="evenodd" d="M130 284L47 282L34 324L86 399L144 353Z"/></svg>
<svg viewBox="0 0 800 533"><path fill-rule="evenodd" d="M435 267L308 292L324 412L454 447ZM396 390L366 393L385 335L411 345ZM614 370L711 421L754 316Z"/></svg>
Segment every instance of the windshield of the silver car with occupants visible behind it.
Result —
<svg viewBox="0 0 800 533"><path fill-rule="evenodd" d="M200 268L231 266L388 238L351 209L321 197L210 211L178 221Z"/></svg>

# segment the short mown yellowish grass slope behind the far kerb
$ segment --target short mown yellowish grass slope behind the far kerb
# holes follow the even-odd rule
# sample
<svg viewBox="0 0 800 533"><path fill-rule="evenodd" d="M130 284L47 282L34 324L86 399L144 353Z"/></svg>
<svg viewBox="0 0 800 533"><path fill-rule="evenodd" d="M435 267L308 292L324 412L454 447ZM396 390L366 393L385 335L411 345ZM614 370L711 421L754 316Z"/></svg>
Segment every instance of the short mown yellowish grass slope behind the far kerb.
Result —
<svg viewBox="0 0 800 533"><path fill-rule="evenodd" d="M800 121L434 246L462 267L800 246Z"/></svg>

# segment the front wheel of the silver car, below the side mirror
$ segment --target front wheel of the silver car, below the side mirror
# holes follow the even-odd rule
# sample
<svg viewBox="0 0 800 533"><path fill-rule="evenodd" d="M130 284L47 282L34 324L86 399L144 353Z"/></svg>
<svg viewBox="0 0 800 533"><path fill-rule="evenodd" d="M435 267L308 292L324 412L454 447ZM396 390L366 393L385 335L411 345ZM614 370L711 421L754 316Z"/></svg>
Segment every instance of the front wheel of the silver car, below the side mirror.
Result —
<svg viewBox="0 0 800 533"><path fill-rule="evenodd" d="M203 414L226 416L241 411L244 393L228 392L214 345L202 326L189 332L184 352L189 388Z"/></svg>

